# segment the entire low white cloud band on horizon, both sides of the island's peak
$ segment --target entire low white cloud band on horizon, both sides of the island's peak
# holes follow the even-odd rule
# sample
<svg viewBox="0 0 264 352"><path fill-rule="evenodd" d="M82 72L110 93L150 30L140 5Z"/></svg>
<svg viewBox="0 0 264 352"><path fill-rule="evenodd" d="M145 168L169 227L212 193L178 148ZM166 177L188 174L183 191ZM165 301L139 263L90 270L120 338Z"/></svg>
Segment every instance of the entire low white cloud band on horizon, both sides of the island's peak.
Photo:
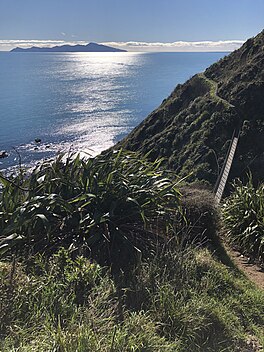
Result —
<svg viewBox="0 0 264 352"><path fill-rule="evenodd" d="M63 32L62 32L63 33ZM72 36L73 37L73 36ZM244 43L243 40L219 40L219 41L199 41L199 42L185 42L177 41L170 43L162 42L139 42L139 41L128 41L128 42L104 42L101 44L113 46L120 49L126 49L128 51L233 51L238 49ZM76 45L76 44L87 44L86 41L65 41L65 40L0 40L0 51L11 50L17 46L21 48L28 48L31 46L39 47L51 47L55 45Z"/></svg>

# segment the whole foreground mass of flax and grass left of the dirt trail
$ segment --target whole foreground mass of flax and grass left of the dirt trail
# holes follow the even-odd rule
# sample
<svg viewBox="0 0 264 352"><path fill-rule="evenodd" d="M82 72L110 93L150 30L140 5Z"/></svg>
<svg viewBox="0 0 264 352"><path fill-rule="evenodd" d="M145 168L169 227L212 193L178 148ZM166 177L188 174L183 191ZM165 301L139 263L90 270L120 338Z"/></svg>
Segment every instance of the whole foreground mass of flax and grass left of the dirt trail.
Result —
<svg viewBox="0 0 264 352"><path fill-rule="evenodd" d="M217 259L207 191L181 200L174 173L135 153L62 160L1 176L1 351L264 343L264 293Z"/></svg>

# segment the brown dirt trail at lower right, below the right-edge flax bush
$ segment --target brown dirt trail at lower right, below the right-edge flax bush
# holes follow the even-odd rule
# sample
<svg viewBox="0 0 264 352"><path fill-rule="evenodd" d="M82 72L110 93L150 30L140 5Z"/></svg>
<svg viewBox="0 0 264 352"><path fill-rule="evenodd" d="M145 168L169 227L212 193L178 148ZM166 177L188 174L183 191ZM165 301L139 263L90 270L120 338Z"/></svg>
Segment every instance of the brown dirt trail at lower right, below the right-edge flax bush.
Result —
<svg viewBox="0 0 264 352"><path fill-rule="evenodd" d="M254 282L256 286L264 290L264 271L259 266L252 264L248 261L247 256L234 251L230 248L227 249L229 256L232 258L236 266L246 274L250 281Z"/></svg>

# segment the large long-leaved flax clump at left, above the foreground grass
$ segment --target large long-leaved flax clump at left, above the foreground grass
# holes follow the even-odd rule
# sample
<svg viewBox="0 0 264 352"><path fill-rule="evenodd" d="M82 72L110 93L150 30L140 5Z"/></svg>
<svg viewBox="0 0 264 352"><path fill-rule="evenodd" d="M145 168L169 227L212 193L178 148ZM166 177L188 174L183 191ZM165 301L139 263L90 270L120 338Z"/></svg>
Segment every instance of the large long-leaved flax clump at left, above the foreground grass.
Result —
<svg viewBox="0 0 264 352"><path fill-rule="evenodd" d="M179 180L136 153L63 156L29 175L0 175L0 251L28 257L65 247L103 265L138 261L180 213Z"/></svg>

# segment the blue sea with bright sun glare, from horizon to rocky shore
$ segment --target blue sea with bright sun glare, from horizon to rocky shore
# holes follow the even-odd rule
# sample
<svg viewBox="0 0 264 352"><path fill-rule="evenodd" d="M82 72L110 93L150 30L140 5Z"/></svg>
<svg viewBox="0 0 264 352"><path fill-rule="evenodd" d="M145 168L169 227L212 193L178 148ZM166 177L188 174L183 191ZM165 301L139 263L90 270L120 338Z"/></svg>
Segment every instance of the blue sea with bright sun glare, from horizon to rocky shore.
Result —
<svg viewBox="0 0 264 352"><path fill-rule="evenodd" d="M114 145L226 53L0 52L0 169ZM40 138L41 143L35 139Z"/></svg>

